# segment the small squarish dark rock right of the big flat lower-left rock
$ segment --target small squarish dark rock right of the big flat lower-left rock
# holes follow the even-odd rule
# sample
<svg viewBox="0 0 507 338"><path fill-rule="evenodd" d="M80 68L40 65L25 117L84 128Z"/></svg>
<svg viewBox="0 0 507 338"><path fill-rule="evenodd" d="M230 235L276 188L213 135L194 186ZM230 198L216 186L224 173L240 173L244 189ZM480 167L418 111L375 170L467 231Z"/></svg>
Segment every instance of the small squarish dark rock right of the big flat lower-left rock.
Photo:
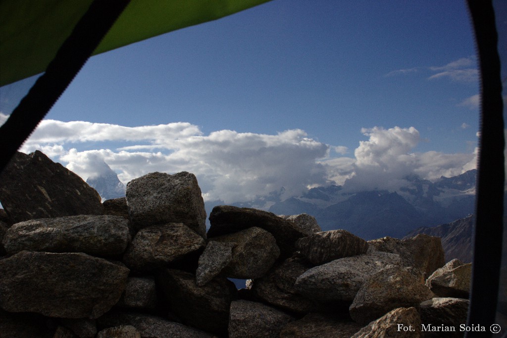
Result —
<svg viewBox="0 0 507 338"><path fill-rule="evenodd" d="M154 309L157 303L155 279L129 277L117 305L126 308Z"/></svg>

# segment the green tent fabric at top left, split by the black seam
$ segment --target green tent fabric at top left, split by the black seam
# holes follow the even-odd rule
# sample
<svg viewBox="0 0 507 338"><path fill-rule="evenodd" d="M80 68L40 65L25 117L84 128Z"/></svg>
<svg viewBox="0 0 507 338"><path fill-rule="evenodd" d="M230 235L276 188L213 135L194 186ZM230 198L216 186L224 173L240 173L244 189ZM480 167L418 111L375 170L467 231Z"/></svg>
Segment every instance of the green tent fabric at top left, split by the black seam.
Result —
<svg viewBox="0 0 507 338"><path fill-rule="evenodd" d="M94 54L219 19L267 1L132 0ZM0 0L0 86L44 72L92 2Z"/></svg>

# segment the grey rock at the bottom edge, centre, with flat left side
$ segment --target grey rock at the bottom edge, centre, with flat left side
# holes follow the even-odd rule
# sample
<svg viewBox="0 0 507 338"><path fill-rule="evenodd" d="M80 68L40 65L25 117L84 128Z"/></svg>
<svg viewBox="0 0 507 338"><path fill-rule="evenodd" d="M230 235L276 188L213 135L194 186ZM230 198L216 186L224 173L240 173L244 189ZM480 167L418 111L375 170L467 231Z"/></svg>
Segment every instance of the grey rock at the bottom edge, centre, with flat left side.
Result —
<svg viewBox="0 0 507 338"><path fill-rule="evenodd" d="M231 302L229 338L278 337L283 327L294 318L284 312L255 301Z"/></svg>

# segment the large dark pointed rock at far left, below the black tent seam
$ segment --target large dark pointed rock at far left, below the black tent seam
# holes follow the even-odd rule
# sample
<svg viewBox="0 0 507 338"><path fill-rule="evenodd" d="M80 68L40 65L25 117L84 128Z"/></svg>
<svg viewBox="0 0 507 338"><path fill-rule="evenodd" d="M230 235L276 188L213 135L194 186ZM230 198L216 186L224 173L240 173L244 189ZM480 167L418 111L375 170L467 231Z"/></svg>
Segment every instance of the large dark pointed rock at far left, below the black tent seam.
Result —
<svg viewBox="0 0 507 338"><path fill-rule="evenodd" d="M13 223L103 210L95 189L39 150L14 155L0 176L0 202Z"/></svg>

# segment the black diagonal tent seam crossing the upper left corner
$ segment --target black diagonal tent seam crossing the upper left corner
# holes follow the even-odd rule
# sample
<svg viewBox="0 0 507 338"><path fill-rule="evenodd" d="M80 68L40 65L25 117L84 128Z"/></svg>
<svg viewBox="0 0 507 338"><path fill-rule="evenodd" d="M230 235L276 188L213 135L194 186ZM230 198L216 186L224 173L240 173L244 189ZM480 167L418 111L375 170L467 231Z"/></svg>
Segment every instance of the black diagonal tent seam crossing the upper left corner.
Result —
<svg viewBox="0 0 507 338"><path fill-rule="evenodd" d="M46 72L0 127L0 173L79 73L130 0L94 0Z"/></svg>

